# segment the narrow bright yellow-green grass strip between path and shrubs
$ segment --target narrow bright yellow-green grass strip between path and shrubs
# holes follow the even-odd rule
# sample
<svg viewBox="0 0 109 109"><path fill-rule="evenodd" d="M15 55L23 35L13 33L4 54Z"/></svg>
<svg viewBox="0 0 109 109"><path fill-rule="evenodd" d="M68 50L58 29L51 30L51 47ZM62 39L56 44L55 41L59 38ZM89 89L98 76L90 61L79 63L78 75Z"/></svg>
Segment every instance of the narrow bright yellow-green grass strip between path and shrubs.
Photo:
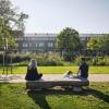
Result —
<svg viewBox="0 0 109 109"><path fill-rule="evenodd" d="M2 74L0 68L0 74ZM14 66L13 74L25 74L26 66ZM76 73L78 66L38 66L38 71L44 74L62 74L69 70ZM109 74L109 66L89 66L89 74Z"/></svg>

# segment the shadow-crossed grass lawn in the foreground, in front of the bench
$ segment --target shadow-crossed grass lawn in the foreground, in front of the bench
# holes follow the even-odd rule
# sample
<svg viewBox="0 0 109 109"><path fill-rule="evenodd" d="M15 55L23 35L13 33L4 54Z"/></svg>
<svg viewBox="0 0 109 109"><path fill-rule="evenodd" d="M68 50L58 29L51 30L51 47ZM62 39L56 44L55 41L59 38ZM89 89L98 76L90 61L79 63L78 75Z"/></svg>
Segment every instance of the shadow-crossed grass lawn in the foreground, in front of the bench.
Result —
<svg viewBox="0 0 109 109"><path fill-rule="evenodd" d="M25 84L0 84L0 109L109 109L109 83L71 89L26 90Z"/></svg>

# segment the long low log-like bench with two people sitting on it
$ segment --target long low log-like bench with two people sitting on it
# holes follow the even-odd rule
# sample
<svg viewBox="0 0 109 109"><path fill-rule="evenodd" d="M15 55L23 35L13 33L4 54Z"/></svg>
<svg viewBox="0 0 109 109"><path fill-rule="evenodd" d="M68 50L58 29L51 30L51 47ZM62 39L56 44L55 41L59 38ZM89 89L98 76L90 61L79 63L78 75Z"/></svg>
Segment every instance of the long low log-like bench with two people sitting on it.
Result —
<svg viewBox="0 0 109 109"><path fill-rule="evenodd" d="M38 81L26 81L27 89L45 89L52 88L55 86L72 86L73 90L81 92L82 86L88 86L89 81L87 78L41 78Z"/></svg>

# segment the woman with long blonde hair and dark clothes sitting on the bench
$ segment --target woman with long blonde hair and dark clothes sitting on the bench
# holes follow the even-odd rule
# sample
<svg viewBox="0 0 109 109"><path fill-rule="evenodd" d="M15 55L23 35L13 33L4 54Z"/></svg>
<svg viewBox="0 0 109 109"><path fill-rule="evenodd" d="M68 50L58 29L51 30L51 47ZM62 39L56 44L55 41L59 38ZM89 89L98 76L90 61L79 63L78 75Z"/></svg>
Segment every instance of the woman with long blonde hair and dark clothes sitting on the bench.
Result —
<svg viewBox="0 0 109 109"><path fill-rule="evenodd" d="M26 81L36 81L41 78L43 74L39 74L37 71L37 61L35 59L32 59L28 66L27 66L27 73L25 76Z"/></svg>

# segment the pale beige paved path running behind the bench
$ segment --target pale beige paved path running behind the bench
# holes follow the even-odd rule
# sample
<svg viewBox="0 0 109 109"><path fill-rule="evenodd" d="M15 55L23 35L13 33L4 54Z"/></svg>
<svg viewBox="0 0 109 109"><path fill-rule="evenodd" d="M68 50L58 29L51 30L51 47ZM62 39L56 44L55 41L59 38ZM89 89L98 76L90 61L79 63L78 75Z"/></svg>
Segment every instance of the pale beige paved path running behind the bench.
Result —
<svg viewBox="0 0 109 109"><path fill-rule="evenodd" d="M43 78L53 80L62 77L62 74L44 74ZM25 83L25 74L0 75L0 83ZM90 74L89 82L109 82L109 74Z"/></svg>

